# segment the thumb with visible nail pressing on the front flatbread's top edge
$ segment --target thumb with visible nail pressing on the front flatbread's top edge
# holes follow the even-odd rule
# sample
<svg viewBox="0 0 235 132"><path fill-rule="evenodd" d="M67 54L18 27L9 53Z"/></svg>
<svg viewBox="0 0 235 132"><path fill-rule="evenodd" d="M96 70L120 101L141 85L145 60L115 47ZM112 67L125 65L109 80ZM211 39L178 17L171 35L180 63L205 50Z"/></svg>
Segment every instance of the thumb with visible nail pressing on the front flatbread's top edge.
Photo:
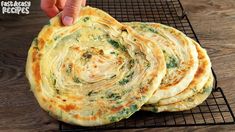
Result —
<svg viewBox="0 0 235 132"><path fill-rule="evenodd" d="M77 19L83 0L67 0L62 12L62 22L64 25L72 25Z"/></svg>

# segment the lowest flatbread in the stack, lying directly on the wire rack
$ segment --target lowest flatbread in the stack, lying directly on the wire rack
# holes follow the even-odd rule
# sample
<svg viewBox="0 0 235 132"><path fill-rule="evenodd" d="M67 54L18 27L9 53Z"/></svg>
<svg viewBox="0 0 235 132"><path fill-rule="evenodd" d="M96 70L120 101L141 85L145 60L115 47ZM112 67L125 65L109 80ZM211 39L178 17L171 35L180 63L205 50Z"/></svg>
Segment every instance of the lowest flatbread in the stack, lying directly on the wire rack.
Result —
<svg viewBox="0 0 235 132"><path fill-rule="evenodd" d="M208 98L213 88L213 80L214 80L213 74L211 73L203 89L201 89L197 94L185 100L162 106L157 106L157 105L154 106L152 104L149 104L147 106L143 106L142 110L152 111L156 113L163 111L176 112L176 111L190 110L200 105L201 103L203 103L203 101L205 101Z"/></svg>

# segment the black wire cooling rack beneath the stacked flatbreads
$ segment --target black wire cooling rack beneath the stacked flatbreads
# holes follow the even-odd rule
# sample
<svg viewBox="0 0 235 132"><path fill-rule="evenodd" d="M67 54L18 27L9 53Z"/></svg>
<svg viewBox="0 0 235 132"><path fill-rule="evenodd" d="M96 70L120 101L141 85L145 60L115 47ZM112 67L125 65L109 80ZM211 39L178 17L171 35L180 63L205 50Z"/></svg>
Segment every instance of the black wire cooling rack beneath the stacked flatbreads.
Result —
<svg viewBox="0 0 235 132"><path fill-rule="evenodd" d="M88 5L108 12L120 22L158 22L177 28L199 42L179 0L90 0ZM98 127L73 126L60 122L59 130L89 131L133 128L234 124L235 117L220 87L196 108L183 112L152 113L139 111L130 118Z"/></svg>

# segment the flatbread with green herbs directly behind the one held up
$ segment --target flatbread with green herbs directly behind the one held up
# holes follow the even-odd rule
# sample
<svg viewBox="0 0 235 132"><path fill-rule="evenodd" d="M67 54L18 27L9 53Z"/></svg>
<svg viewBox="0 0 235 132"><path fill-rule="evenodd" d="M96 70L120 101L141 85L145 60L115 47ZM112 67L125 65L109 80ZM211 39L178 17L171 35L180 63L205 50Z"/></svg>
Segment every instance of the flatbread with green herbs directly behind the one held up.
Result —
<svg viewBox="0 0 235 132"><path fill-rule="evenodd" d="M198 53L192 41L177 29L159 23L125 23L155 41L162 49L167 72L147 104L177 95L188 87L198 69Z"/></svg>

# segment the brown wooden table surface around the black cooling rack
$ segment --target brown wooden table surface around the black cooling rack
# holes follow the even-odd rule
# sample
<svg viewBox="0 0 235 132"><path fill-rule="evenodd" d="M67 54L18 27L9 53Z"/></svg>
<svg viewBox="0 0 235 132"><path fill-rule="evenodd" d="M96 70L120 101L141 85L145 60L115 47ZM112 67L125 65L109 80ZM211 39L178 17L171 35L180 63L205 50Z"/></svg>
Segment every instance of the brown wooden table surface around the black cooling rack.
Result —
<svg viewBox="0 0 235 132"><path fill-rule="evenodd" d="M25 78L28 48L48 21L39 0L31 1L29 15L0 16L0 131L58 131L58 122L39 107ZM181 2L235 112L235 1ZM139 130L235 131L235 125Z"/></svg>

